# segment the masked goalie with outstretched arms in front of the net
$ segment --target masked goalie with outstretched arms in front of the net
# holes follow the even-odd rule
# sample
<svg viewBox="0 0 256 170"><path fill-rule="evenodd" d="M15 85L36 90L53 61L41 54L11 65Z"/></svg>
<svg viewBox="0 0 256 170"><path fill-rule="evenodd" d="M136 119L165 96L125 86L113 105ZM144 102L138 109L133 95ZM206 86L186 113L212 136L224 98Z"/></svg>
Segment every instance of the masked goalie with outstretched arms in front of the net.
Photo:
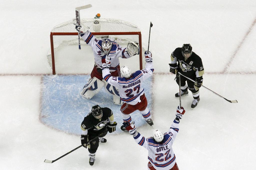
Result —
<svg viewBox="0 0 256 170"><path fill-rule="evenodd" d="M118 91L116 89L109 90L109 88L114 88L107 86L102 78L102 63L105 61L104 56L111 57L111 67L109 68L110 74L112 76L120 76L120 58L130 58L136 54L140 53L140 47L137 42L129 42L127 48L120 47L116 42L109 39L98 40L92 33L88 30L82 22L81 26L76 26L78 32L81 33L83 40L91 46L94 55L94 68L91 72L91 77L88 83L84 85L81 95L87 99L91 99L95 94L97 94L100 89L104 86L107 92L114 91L112 94L113 99L119 99ZM116 94L117 93L117 94ZM120 100L119 100L120 101ZM116 103L122 104L122 103Z"/></svg>

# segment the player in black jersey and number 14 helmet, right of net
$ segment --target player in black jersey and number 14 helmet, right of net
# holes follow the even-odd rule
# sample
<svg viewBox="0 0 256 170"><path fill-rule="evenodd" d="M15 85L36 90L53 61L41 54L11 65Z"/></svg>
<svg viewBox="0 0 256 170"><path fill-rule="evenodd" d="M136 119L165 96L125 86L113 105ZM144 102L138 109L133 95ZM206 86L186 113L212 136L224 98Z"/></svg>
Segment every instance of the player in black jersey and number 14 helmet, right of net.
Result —
<svg viewBox="0 0 256 170"><path fill-rule="evenodd" d="M178 64L177 64L178 62ZM181 96L188 95L188 89L192 92L193 102L191 108L195 108L199 102L199 88L203 82L204 66L201 58L192 51L190 44L183 44L180 48L176 48L171 55L170 72L177 74L177 71L184 76L196 81L197 83L188 80L184 76L180 76ZM186 81L187 84L186 85ZM176 82L179 84L179 77L176 76ZM179 93L175 94L175 97L179 97Z"/></svg>

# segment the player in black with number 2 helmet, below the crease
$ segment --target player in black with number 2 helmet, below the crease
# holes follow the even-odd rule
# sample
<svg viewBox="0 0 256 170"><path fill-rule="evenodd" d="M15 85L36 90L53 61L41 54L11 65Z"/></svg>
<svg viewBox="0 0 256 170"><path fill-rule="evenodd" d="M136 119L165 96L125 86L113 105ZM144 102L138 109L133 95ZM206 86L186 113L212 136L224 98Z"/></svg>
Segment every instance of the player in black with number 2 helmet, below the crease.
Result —
<svg viewBox="0 0 256 170"><path fill-rule="evenodd" d="M81 143L83 147L88 147L90 165L94 164L95 153L99 147L99 142L105 143L107 140L103 137L108 132L114 132L116 125L113 112L109 108L101 108L99 105L93 106L92 111L84 117L81 124ZM95 139L92 140L93 138ZM90 142L88 143L88 141Z"/></svg>

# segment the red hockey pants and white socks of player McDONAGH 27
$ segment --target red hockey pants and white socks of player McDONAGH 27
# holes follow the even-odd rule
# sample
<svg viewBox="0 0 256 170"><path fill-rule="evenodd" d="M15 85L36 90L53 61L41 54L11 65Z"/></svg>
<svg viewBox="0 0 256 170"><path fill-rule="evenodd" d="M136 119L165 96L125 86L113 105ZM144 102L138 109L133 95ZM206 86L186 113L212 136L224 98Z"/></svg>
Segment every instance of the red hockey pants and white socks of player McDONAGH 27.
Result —
<svg viewBox="0 0 256 170"><path fill-rule="evenodd" d="M147 108L147 98L146 98L145 94L143 94L140 97L140 100L141 100L141 102L138 102L135 105L123 103L120 111L122 112L121 116L122 116L124 122L132 122L132 118L131 118L130 114L136 110L138 110L142 114L142 116L144 117L145 120L151 119L150 111Z"/></svg>

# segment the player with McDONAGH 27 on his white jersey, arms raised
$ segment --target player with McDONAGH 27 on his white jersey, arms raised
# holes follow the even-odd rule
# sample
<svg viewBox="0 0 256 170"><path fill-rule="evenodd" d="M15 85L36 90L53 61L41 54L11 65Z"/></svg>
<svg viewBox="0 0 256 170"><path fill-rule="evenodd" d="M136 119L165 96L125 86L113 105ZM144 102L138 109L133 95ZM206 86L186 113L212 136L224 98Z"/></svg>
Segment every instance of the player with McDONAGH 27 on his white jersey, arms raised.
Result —
<svg viewBox="0 0 256 170"><path fill-rule="evenodd" d="M132 73L129 67L123 66L120 69L122 77L114 77L110 74L109 68L112 58L108 58L102 64L102 75L106 82L119 89L120 100L124 102L120 109L123 121L131 122L130 114L139 110L146 122L152 126L154 123L147 108L147 98L144 94L144 88L141 87L141 83L153 74L152 54L146 51L145 58L145 69ZM123 126L121 129L127 131Z"/></svg>

